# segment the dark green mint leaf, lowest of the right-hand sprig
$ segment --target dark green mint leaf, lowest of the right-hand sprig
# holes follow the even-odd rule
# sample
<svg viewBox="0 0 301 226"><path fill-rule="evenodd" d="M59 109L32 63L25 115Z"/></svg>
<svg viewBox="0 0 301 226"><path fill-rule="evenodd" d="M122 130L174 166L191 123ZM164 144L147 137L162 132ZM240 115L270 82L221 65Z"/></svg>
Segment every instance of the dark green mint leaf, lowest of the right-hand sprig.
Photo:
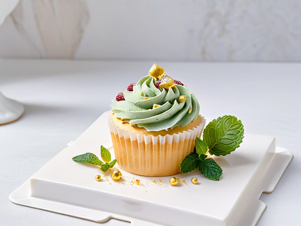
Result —
<svg viewBox="0 0 301 226"><path fill-rule="evenodd" d="M222 168L214 159L205 159L206 157L206 155L200 157L203 160L199 163L199 171L210 180L219 180L219 177L223 174Z"/></svg>

